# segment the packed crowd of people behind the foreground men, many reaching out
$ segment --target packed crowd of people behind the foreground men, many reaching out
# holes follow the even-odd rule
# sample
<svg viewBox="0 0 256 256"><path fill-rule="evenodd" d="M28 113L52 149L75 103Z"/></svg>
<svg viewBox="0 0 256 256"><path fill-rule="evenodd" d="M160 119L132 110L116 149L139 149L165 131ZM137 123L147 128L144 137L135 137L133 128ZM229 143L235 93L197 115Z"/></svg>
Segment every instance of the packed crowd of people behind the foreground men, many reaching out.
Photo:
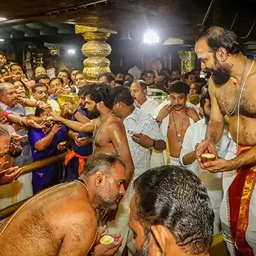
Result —
<svg viewBox="0 0 256 256"><path fill-rule="evenodd" d="M218 233L223 196L221 177L202 175L195 156L196 145L204 138L210 117L208 78L209 74L201 70L180 75L178 71L162 68L156 74L154 70L143 71L135 65L127 73L103 73L97 85L87 85L87 78L78 69L60 70L55 76L52 73L49 76L45 68L38 67L34 78L28 80L21 65L9 63L6 55L0 53L0 139L6 138L1 145L0 183L4 186L0 187L0 209L44 188L78 178L83 164L94 151L93 132L75 131L49 117L55 112L85 124L88 119L99 117L95 107L99 101L90 98L98 93L97 97L104 103L111 95L108 108L124 122L134 177L153 166L191 166L208 188L215 210L215 233ZM70 93L78 94L77 109L68 102L63 106L58 104L60 95ZM159 97L164 100L159 101ZM223 157L232 152L231 141L225 134L220 142ZM18 178L19 166L55 156L66 149L69 152L65 161Z"/></svg>

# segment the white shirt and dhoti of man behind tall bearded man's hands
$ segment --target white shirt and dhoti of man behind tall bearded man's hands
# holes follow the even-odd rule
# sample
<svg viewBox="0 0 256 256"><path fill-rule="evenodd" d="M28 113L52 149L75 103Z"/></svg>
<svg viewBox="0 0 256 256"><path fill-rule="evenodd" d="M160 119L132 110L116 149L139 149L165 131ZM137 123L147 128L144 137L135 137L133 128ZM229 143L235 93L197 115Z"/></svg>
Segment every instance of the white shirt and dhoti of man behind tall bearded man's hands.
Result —
<svg viewBox="0 0 256 256"><path fill-rule="evenodd" d="M205 119L192 124L186 130L185 137L182 143L182 149L180 154L180 161L183 166L183 156L188 153L191 153L195 150L196 144L199 144L206 137L206 122ZM223 136L216 145L218 156L225 158L225 155L228 153L228 148L230 145L230 139L228 139L228 131L224 130ZM221 201L223 199L223 187L222 187L222 173L211 174L210 172L200 168L198 161L194 161L193 164L186 166L188 169L191 169L201 181L205 184L210 201L213 205L213 208L219 208Z"/></svg>

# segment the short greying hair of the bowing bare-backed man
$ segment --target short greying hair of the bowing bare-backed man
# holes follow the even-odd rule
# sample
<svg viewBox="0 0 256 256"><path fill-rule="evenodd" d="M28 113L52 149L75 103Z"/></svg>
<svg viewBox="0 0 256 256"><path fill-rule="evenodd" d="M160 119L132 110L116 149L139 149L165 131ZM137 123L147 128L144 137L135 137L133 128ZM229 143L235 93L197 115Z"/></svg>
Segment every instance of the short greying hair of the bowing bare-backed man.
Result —
<svg viewBox="0 0 256 256"><path fill-rule="evenodd" d="M117 154L96 153L86 161L82 174L85 176L91 176L96 174L97 171L110 172L112 167L116 164L122 164L125 168L124 162Z"/></svg>

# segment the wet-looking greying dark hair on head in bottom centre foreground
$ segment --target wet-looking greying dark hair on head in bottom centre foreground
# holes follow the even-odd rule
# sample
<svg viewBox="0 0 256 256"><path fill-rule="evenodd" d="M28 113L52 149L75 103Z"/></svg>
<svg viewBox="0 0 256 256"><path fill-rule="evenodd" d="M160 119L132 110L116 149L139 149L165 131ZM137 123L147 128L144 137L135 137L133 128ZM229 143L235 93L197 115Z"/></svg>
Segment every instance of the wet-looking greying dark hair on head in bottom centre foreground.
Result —
<svg viewBox="0 0 256 256"><path fill-rule="evenodd" d="M149 230L168 228L176 245L191 254L210 250L214 213L206 187L192 171L161 166L134 181L134 216Z"/></svg>

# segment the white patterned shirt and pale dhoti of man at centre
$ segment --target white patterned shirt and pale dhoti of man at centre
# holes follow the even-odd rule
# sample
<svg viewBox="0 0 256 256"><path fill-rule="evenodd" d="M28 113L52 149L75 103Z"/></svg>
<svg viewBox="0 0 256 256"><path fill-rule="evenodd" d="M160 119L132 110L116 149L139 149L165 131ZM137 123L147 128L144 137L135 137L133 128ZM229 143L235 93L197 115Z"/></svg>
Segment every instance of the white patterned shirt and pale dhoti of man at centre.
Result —
<svg viewBox="0 0 256 256"><path fill-rule="evenodd" d="M149 169L150 164L150 149L145 149L142 146L139 146L136 142L132 140L132 133L142 133L149 136L154 140L166 140L164 135L161 133L158 125L156 124L156 120L151 117L150 114L146 114L142 110L139 110L135 107L134 112L130 114L128 117L124 119L124 127L127 132L127 140L129 144L129 149L132 154L132 160L134 162L134 176L132 181L137 178L139 175L143 174L145 171ZM121 234L124 238L122 242L122 246L116 252L115 255L122 255L122 251L124 250L124 246L127 242L131 242L128 239L131 237L129 235L129 203L132 199L132 181L129 184L129 188L127 189L124 198L119 203L119 208L117 212L117 216L114 221L107 223L107 233L109 234ZM101 223L104 225L104 223Z"/></svg>

